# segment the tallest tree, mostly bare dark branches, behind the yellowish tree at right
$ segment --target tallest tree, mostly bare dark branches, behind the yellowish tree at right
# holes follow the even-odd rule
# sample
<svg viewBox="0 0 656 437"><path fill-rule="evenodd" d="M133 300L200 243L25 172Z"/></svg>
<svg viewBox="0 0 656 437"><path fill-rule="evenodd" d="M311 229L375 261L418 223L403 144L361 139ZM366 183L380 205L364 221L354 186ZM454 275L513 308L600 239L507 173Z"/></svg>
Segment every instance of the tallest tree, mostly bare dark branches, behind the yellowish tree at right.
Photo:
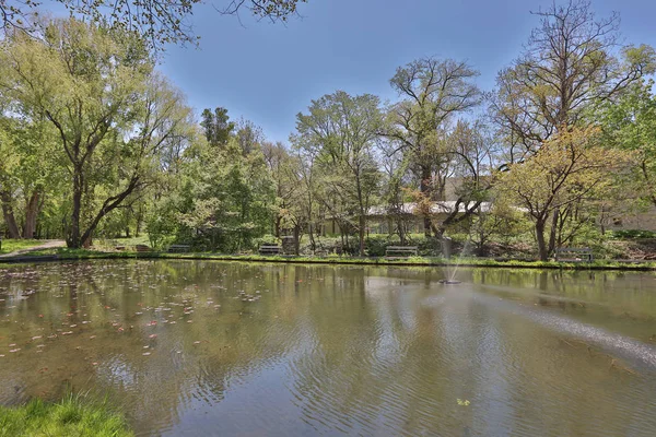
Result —
<svg viewBox="0 0 656 437"><path fill-rule="evenodd" d="M540 25L513 66L499 73L490 98L509 163L537 153L560 131L586 129L586 111L652 73L656 61L649 46L619 47L619 15L597 19L588 0L535 14ZM560 211L552 214L549 251L561 226Z"/></svg>

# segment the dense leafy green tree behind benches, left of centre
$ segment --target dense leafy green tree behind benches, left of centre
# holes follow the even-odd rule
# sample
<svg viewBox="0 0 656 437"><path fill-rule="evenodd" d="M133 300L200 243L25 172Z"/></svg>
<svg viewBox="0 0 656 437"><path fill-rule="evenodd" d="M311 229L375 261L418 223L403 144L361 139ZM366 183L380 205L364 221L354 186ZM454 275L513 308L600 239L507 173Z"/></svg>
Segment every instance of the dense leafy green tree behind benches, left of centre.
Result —
<svg viewBox="0 0 656 437"><path fill-rule="evenodd" d="M270 229L276 191L259 149L244 155L235 137L219 151L199 142L187 151L181 175L178 238L234 252Z"/></svg>

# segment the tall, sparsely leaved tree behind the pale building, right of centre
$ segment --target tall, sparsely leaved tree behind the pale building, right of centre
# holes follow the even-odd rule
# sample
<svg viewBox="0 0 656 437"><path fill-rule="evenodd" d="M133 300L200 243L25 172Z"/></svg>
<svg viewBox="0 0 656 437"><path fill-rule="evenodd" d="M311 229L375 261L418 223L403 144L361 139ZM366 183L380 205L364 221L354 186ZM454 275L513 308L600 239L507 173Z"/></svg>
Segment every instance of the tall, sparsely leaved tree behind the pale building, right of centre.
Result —
<svg viewBox="0 0 656 437"><path fill-rule="evenodd" d="M440 135L452 118L480 102L480 92L472 83L477 75L466 62L424 58L400 67L390 80L402 99L389 108L385 134L409 154L426 202L440 200L444 190L448 156L440 149ZM424 229L429 236L429 215L424 216Z"/></svg>

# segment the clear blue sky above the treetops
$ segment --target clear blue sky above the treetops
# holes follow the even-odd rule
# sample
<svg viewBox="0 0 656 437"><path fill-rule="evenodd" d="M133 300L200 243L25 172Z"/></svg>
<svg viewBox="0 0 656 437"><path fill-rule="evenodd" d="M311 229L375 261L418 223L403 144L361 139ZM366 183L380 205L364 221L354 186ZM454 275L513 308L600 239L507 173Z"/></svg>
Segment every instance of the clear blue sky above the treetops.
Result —
<svg viewBox="0 0 656 437"><path fill-rule="evenodd" d="M216 7L227 0L214 0ZM161 70L200 113L224 106L286 142L311 99L343 90L394 101L397 67L423 56L468 60L483 90L522 50L549 0L308 0L286 25L195 10L200 47L169 47ZM626 43L656 47L656 1L593 0L598 15L621 14Z"/></svg>

